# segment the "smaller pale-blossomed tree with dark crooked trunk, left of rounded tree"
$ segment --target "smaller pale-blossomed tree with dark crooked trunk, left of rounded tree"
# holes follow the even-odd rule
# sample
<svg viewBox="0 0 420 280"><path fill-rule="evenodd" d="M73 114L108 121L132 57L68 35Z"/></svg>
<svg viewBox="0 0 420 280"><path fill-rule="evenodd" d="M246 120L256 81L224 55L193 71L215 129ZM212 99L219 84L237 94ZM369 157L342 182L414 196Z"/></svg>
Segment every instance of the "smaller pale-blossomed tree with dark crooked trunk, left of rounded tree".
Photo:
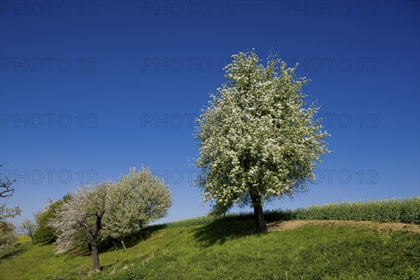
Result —
<svg viewBox="0 0 420 280"><path fill-rule="evenodd" d="M78 188L50 220L57 233L57 253L69 251L76 244L85 242L95 271L100 270L97 242L105 214L106 195L111 185L111 182L104 182ZM78 235L80 229L85 232L84 235Z"/></svg>

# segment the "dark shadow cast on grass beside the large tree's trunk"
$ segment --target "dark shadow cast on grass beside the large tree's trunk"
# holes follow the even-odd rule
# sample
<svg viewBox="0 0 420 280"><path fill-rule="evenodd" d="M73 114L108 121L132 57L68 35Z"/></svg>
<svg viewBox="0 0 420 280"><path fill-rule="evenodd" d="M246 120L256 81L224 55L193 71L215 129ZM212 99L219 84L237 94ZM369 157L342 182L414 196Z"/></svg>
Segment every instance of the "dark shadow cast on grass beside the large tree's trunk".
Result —
<svg viewBox="0 0 420 280"><path fill-rule="evenodd" d="M253 235L254 232L253 220L220 218L195 229L193 236L200 245L207 247L214 244L223 244L230 239Z"/></svg>

